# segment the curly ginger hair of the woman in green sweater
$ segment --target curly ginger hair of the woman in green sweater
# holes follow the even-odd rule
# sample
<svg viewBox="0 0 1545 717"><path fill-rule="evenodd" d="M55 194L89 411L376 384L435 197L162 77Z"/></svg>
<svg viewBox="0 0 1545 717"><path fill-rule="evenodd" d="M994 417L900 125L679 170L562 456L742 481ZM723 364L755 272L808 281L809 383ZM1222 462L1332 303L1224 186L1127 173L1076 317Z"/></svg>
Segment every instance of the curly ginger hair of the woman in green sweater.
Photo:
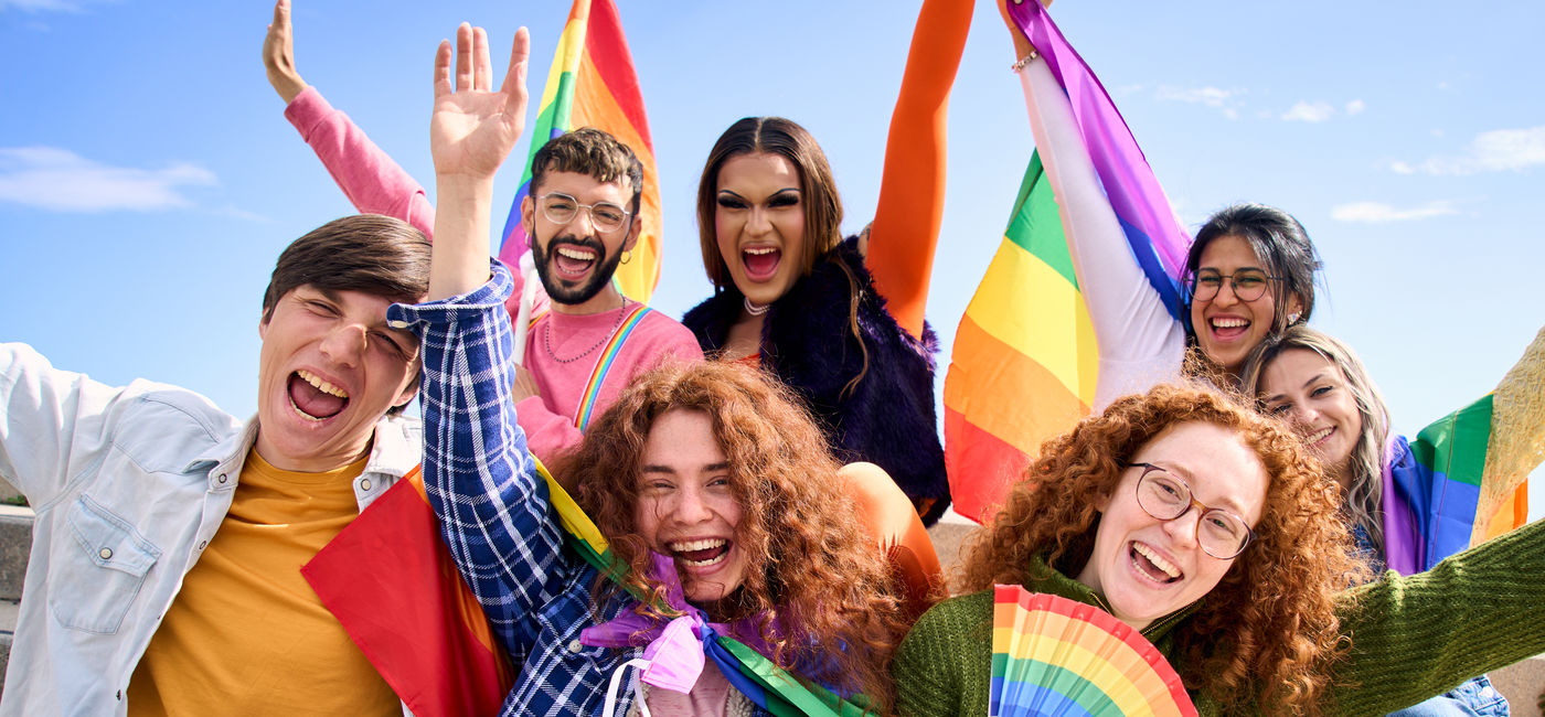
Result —
<svg viewBox="0 0 1545 717"><path fill-rule="evenodd" d="M1207 422L1234 431L1270 476L1256 541L1174 634L1187 688L1231 706L1318 714L1330 668L1350 640L1335 595L1363 583L1338 491L1281 422L1204 386L1157 386L1120 399L1072 433L1048 440L1001 511L970 545L961 587L1024 583L1031 558L1077 575L1126 460L1166 428Z"/></svg>

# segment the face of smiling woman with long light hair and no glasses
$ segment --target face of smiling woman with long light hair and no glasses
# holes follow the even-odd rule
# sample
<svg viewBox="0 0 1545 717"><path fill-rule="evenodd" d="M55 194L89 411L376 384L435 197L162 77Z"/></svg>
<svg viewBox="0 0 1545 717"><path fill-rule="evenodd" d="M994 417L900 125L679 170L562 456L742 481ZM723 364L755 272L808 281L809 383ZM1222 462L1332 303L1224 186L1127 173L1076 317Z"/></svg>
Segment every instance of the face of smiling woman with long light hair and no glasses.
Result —
<svg viewBox="0 0 1545 717"><path fill-rule="evenodd" d="M1363 413L1341 368L1315 351L1287 349L1261 371L1259 392L1267 411L1292 420L1346 485L1352 450L1363 436Z"/></svg>

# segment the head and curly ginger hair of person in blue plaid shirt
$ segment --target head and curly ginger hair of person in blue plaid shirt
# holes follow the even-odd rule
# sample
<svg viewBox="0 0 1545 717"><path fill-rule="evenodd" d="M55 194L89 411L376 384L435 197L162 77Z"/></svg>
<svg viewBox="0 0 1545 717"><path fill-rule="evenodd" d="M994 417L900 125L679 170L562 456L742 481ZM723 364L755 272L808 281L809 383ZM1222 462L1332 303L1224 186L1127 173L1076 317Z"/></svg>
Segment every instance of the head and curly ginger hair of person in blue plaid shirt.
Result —
<svg viewBox="0 0 1545 717"><path fill-rule="evenodd" d="M607 525L627 566L623 583L649 596L632 603L638 615L674 618L660 606L681 584L729 637L884 711L890 654L905 626L888 564L844 487L862 471L884 477L865 464L840 467L788 388L732 363L644 375L555 465L586 513ZM615 583L598 587L598 604L621 595ZM675 714L664 702L674 697L647 692L657 712Z"/></svg>

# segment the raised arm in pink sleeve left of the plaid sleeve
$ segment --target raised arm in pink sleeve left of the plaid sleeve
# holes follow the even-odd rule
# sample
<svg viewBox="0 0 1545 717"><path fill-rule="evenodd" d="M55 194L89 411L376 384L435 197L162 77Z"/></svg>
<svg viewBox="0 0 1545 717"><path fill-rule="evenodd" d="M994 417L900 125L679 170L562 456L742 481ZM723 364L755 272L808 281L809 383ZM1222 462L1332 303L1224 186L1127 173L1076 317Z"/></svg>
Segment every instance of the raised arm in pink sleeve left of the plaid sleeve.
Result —
<svg viewBox="0 0 1545 717"><path fill-rule="evenodd" d="M273 23L263 40L263 66L284 100L284 117L321 159L328 175L354 209L396 216L425 235L434 229L434 207L423 187L394 162L348 114L334 110L295 68L289 0L273 5Z"/></svg>

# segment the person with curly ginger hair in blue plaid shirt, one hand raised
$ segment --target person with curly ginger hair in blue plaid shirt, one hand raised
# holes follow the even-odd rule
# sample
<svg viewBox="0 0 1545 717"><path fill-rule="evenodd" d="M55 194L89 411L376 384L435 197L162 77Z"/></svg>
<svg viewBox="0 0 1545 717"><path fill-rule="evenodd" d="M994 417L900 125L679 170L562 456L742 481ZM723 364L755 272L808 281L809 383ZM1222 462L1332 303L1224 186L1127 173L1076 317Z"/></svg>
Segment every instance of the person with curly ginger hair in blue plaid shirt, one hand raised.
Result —
<svg viewBox="0 0 1545 717"><path fill-rule="evenodd" d="M426 498L518 669L501 714L596 715L613 702L616 714L766 714L749 700L762 688L722 661L714 635L888 712L899 581L850 487L884 473L839 470L802 403L769 377L695 365L638 379L558 460L621 569L565 549L562 491L539 476L510 400L513 280L487 253L493 176L524 130L528 56L522 28L494 91L480 29L464 23L454 53L447 42L436 54L430 301L389 312L423 342ZM640 658L650 668L613 700L609 686L638 677L627 668Z"/></svg>

